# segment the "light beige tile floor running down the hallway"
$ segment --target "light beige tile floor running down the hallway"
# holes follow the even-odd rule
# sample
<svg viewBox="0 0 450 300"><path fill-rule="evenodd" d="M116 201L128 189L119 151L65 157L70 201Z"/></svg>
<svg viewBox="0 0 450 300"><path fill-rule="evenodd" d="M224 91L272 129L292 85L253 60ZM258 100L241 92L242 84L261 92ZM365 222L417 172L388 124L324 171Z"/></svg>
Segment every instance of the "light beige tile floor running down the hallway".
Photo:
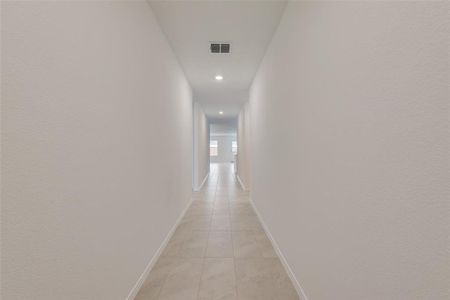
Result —
<svg viewBox="0 0 450 300"><path fill-rule="evenodd" d="M210 174L136 300L298 300L232 165Z"/></svg>

